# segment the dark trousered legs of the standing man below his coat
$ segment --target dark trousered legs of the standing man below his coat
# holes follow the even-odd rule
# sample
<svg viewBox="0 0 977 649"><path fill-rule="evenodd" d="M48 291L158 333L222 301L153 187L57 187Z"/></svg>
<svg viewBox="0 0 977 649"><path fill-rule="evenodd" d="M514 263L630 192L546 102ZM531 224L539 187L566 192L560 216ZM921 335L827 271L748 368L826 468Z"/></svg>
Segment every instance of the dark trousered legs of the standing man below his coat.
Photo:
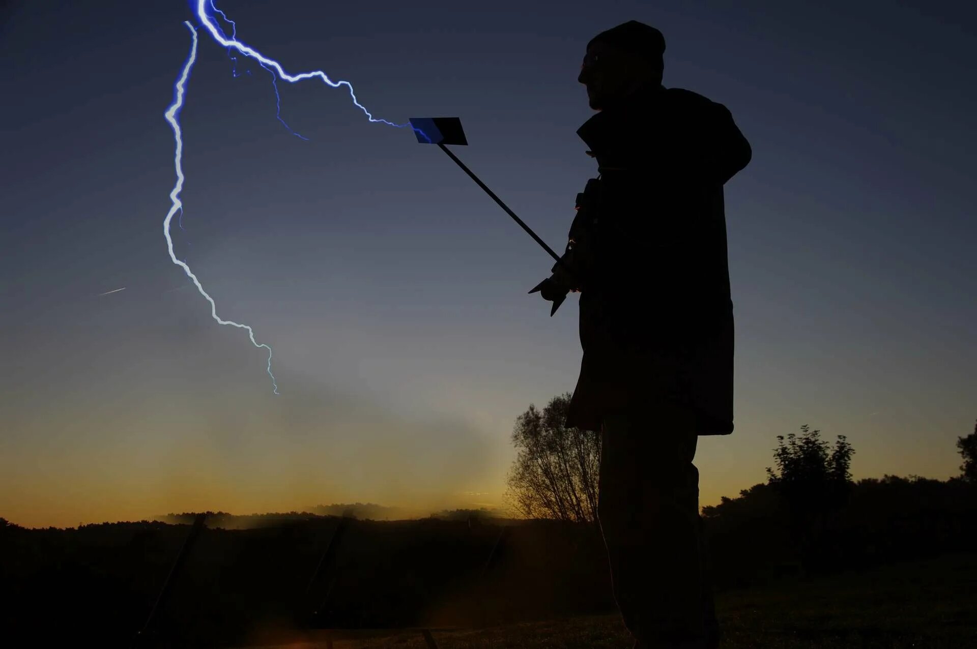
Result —
<svg viewBox="0 0 977 649"><path fill-rule="evenodd" d="M705 648L717 629L692 464L699 438L690 414L667 410L605 418L598 515L636 646Z"/></svg>

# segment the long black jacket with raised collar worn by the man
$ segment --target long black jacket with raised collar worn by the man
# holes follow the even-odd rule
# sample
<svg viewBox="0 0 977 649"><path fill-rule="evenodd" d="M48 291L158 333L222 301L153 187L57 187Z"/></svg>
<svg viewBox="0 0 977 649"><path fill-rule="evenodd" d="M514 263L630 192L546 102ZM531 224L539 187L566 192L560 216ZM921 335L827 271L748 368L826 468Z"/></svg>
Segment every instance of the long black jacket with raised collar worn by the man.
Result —
<svg viewBox="0 0 977 649"><path fill-rule="evenodd" d="M583 357L568 426L679 407L733 431L733 304L723 185L750 160L722 104L646 87L577 130L600 172L585 224ZM576 228L579 238L579 227Z"/></svg>

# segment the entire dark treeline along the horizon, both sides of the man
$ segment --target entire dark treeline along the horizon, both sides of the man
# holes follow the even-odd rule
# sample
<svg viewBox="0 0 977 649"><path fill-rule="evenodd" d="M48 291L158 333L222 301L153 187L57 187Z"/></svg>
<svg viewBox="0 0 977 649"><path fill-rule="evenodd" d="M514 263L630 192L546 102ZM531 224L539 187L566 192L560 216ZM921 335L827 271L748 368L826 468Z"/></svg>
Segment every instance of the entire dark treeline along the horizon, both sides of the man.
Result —
<svg viewBox="0 0 977 649"><path fill-rule="evenodd" d="M150 636L213 646L296 638L309 626L474 626L614 610L592 525L461 513L353 521L313 583L341 519L295 516L253 529L205 528ZM972 551L977 488L958 478L863 479L843 506L798 525L786 496L757 484L704 507L703 518L722 591ZM143 521L29 530L0 519L6 636L128 645L189 529Z"/></svg>

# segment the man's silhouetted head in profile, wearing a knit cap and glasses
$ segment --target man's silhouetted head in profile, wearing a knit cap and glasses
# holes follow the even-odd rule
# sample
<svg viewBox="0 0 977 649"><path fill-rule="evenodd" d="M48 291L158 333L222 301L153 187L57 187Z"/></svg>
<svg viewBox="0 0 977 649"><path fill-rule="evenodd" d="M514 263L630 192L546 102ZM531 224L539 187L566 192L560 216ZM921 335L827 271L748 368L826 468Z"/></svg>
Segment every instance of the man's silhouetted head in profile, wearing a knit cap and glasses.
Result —
<svg viewBox="0 0 977 649"><path fill-rule="evenodd" d="M661 83L665 39L655 27L628 20L587 43L577 81L590 107L603 110L647 83Z"/></svg>

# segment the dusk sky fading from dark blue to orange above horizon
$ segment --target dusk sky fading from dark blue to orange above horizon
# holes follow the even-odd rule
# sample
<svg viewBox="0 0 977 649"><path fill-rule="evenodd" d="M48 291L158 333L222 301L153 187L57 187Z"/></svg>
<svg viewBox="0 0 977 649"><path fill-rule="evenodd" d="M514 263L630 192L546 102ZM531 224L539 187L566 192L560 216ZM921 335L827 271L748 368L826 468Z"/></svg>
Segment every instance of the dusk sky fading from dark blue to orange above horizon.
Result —
<svg viewBox="0 0 977 649"><path fill-rule="evenodd" d="M764 481L803 424L847 435L856 479L959 473L977 419L972 3L218 8L378 118L461 117L456 153L557 249L596 175L575 135L586 43L657 26L664 85L725 104L753 149L726 185L736 429L700 438L701 505ZM527 295L552 262L345 88L279 80L296 137L273 76L200 30L175 250L273 347L276 395L265 350L166 251L184 20L187 0L0 8L0 516L501 506L515 418L579 369L574 301L550 318Z"/></svg>

